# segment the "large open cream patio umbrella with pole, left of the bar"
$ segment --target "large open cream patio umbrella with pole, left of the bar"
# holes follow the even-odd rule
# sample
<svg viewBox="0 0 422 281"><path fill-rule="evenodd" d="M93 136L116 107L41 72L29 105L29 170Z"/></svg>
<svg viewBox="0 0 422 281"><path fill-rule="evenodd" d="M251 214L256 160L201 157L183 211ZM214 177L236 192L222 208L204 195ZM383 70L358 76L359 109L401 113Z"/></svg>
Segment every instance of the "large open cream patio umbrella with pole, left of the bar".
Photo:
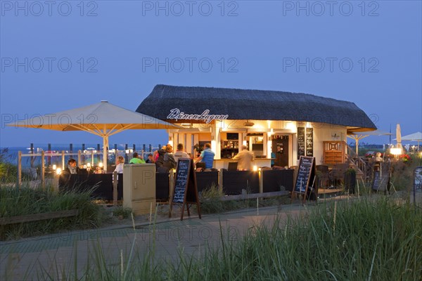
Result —
<svg viewBox="0 0 422 281"><path fill-rule="evenodd" d="M8 124L55 131L87 131L103 138L103 166L107 169L108 137L128 129L174 129L179 126L102 100L101 103L65 110Z"/></svg>

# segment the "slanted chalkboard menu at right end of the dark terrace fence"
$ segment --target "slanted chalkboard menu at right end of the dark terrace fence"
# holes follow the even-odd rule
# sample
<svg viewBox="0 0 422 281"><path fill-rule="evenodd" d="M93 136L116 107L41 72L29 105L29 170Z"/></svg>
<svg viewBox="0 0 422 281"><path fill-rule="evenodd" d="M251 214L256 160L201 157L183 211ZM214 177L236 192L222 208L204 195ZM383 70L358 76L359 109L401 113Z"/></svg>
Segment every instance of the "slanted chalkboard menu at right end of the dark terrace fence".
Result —
<svg viewBox="0 0 422 281"><path fill-rule="evenodd" d="M293 192L306 195L310 185L314 185L315 158L301 156L298 164L298 175L296 176ZM316 190L315 190L316 191ZM292 194L293 196L293 194Z"/></svg>

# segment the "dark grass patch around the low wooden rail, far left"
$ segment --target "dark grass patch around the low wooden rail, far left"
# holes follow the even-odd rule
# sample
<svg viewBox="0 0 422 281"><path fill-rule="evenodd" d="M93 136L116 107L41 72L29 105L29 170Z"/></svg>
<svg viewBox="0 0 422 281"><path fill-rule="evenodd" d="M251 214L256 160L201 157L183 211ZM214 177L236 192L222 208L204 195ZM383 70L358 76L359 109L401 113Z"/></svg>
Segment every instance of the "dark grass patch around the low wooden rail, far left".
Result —
<svg viewBox="0 0 422 281"><path fill-rule="evenodd" d="M47 188L0 188L0 217L42 214L54 211L77 209L77 216L55 218L28 223L13 223L0 226L0 239L45 235L60 230L93 228L104 219L100 206L91 202L91 190L84 192L53 192Z"/></svg>

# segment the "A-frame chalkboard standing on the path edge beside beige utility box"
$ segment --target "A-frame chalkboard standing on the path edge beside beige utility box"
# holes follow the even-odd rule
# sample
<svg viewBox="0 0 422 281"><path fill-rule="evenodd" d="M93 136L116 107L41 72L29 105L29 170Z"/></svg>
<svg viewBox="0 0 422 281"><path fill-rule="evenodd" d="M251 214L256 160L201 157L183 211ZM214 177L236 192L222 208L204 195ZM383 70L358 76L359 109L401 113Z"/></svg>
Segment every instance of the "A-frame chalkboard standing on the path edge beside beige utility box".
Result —
<svg viewBox="0 0 422 281"><path fill-rule="evenodd" d="M183 220L184 207L189 212L189 204L196 204L198 206L198 216L200 216L200 205L198 199L198 188L196 185L196 174L193 169L192 159L179 158L177 162L177 170L174 178L174 190L172 200L170 200L170 213L169 217L172 217L172 205L182 204L181 207L181 220Z"/></svg>

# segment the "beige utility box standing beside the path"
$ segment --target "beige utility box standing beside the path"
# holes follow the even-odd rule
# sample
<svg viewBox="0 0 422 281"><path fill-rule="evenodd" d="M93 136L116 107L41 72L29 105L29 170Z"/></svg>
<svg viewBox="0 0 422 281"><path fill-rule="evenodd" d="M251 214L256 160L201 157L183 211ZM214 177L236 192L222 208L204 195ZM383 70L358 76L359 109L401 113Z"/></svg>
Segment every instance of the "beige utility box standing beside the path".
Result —
<svg viewBox="0 0 422 281"><path fill-rule="evenodd" d="M136 215L155 212L155 164L124 164L123 207Z"/></svg>

